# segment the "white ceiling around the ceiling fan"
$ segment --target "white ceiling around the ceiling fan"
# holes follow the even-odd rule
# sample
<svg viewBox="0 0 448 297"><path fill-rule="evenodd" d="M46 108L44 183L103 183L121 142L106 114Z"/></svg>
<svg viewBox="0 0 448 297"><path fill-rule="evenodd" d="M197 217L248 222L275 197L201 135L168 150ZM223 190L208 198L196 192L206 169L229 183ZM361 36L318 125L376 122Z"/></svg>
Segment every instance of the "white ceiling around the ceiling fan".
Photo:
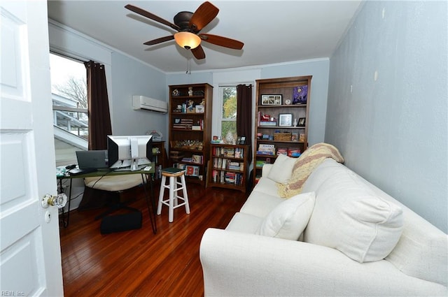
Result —
<svg viewBox="0 0 448 297"><path fill-rule="evenodd" d="M179 11L195 12L203 1L48 1L48 16L164 72L203 71L330 57L361 1L218 1L218 16L202 29L237 39L242 50L202 42L196 60L174 41L144 45L174 34L163 24L125 8L132 4L169 22Z"/></svg>

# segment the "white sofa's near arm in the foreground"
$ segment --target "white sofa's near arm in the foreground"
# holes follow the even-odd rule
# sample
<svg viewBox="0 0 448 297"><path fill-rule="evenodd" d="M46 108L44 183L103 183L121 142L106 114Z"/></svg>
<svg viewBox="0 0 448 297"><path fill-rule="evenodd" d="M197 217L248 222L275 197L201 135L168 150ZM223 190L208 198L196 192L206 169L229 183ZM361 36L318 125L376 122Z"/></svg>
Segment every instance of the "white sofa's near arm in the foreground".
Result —
<svg viewBox="0 0 448 297"><path fill-rule="evenodd" d="M200 245L205 296L428 296L447 287L388 261L358 263L329 247L207 229Z"/></svg>

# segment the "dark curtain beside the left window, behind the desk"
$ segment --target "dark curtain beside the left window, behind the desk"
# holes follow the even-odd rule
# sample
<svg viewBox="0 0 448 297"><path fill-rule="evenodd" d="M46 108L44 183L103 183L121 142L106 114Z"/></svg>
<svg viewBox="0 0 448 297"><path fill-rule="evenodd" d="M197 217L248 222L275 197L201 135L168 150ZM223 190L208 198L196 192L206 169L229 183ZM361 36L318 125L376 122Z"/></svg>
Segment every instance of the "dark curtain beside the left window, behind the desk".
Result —
<svg viewBox="0 0 448 297"><path fill-rule="evenodd" d="M112 134L111 113L107 96L104 65L88 61L87 108L89 113L89 150L106 150L107 136Z"/></svg>

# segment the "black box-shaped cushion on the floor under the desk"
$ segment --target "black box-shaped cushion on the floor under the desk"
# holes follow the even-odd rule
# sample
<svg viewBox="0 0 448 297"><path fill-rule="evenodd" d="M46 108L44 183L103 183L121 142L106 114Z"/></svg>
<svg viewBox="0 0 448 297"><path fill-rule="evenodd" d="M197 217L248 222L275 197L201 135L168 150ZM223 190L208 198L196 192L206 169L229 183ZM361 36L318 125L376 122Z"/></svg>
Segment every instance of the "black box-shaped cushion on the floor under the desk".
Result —
<svg viewBox="0 0 448 297"><path fill-rule="evenodd" d="M141 212L108 215L102 219L99 230L102 234L122 232L141 228Z"/></svg>

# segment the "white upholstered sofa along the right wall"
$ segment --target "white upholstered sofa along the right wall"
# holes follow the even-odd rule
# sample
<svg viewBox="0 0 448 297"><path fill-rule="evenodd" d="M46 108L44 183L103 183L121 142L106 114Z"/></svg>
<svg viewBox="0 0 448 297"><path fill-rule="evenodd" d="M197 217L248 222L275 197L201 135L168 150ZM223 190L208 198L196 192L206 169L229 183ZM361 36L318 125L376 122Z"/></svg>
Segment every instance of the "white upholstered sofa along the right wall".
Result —
<svg viewBox="0 0 448 297"><path fill-rule="evenodd" d="M303 186L310 214L309 207L301 210L300 219L286 208L295 224L306 226L300 238L279 238L292 231L288 222L275 221L281 216L270 224L283 224L286 232L267 228L263 233L274 210L293 199L277 195L276 182L267 178L272 167L263 167L262 178L225 230L205 231L200 244L205 296L448 296L447 234L333 159L325 159ZM339 176L345 181L335 182ZM352 195L362 191L370 197ZM359 204L372 197L379 202ZM372 208L386 217L370 214L370 222L363 221ZM363 240L370 240L367 253L357 250Z"/></svg>

